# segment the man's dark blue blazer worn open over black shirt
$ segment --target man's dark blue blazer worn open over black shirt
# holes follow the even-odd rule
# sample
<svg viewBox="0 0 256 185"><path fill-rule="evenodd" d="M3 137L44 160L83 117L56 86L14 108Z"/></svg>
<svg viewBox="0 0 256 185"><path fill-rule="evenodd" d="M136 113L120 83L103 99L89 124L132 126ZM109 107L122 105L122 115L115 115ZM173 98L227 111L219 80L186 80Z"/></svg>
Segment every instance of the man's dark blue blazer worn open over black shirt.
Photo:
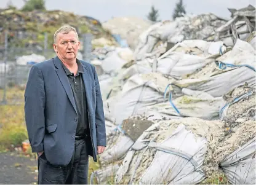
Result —
<svg viewBox="0 0 256 185"><path fill-rule="evenodd" d="M81 60L80 60L81 61ZM81 61L87 97L89 155L106 146L102 95L95 67ZM33 65L25 89L25 121L32 152L44 151L53 165L68 165L74 151L78 114L73 93L58 57Z"/></svg>

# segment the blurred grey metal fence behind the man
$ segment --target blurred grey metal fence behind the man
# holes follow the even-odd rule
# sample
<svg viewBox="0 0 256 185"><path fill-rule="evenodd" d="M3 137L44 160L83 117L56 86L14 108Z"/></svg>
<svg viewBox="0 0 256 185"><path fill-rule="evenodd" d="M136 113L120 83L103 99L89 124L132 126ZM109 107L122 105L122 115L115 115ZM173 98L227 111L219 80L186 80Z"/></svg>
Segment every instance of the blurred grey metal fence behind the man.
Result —
<svg viewBox="0 0 256 185"><path fill-rule="evenodd" d="M82 59L90 61L92 51L92 34L82 35ZM18 63L17 59L24 55L36 54L47 59L55 57L54 49L47 47L47 37L44 39L44 47L14 47L10 46L8 33L5 33L4 45L0 45L0 104L20 104L23 95L18 95L18 91L23 93L26 81L30 73L33 61Z"/></svg>

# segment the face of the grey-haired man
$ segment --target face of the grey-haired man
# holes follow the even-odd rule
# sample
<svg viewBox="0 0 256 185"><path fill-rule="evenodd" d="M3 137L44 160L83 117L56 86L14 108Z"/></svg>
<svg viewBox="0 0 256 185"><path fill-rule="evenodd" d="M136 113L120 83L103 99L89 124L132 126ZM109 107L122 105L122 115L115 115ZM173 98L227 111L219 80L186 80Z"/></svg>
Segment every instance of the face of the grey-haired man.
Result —
<svg viewBox="0 0 256 185"><path fill-rule="evenodd" d="M76 33L70 31L68 34L58 33L54 50L60 59L73 60L78 54L79 46L80 42L76 37Z"/></svg>

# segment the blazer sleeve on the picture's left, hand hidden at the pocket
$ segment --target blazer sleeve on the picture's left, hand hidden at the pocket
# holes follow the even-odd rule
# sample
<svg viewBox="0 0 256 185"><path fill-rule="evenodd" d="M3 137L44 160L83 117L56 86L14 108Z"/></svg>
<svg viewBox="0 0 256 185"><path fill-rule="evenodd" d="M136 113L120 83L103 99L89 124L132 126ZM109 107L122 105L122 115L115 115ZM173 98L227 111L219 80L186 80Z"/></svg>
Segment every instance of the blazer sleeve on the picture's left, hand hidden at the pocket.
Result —
<svg viewBox="0 0 256 185"><path fill-rule="evenodd" d="M34 65L30 69L25 89L25 122L32 152L44 151L45 134L44 107L46 94L41 69Z"/></svg>

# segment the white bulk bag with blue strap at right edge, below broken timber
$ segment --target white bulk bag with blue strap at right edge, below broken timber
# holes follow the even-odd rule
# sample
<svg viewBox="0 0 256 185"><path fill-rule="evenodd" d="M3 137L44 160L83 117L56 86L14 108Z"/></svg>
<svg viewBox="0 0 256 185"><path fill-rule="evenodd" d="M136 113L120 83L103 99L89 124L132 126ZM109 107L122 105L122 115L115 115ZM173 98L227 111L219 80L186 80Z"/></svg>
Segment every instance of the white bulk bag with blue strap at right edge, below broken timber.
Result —
<svg viewBox="0 0 256 185"><path fill-rule="evenodd" d="M175 93L180 94L180 89L185 87L218 97L244 85L245 82L249 86L255 84L255 51L249 43L238 39L234 48L217 58L215 64L215 68L209 70L210 74L191 76L190 79L174 82L172 88L177 91ZM200 71L198 73L200 74Z"/></svg>

